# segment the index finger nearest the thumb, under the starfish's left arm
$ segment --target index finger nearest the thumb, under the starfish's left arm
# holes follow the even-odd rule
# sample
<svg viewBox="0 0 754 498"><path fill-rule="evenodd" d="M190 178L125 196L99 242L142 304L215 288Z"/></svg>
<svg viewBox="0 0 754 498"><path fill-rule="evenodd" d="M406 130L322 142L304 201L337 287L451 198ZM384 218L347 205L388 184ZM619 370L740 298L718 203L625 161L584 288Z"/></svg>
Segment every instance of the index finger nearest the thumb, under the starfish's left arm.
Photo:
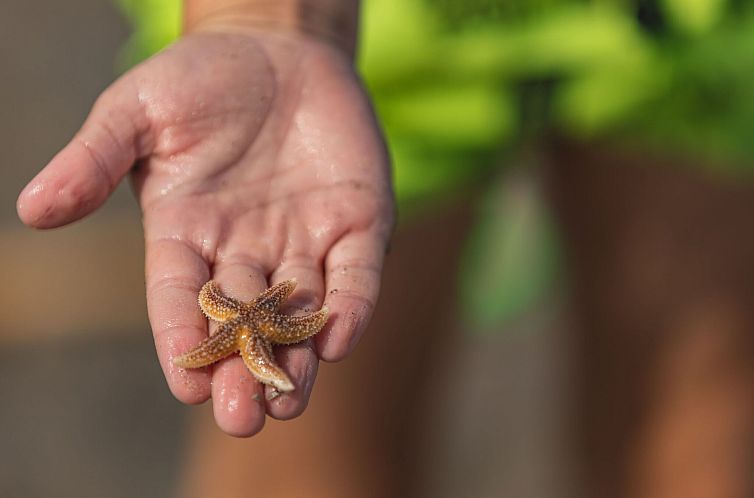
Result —
<svg viewBox="0 0 754 498"><path fill-rule="evenodd" d="M207 321L197 304L209 269L200 254L180 240L147 240L147 309L157 356L173 395L184 403L210 396L210 369L184 369L173 358L207 337Z"/></svg>

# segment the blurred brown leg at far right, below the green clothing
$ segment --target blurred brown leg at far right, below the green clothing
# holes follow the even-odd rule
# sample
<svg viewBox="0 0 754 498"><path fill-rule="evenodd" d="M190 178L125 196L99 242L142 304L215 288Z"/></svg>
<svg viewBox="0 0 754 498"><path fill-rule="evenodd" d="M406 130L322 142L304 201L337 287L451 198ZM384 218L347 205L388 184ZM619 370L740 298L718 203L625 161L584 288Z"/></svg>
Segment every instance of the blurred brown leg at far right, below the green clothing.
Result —
<svg viewBox="0 0 754 498"><path fill-rule="evenodd" d="M754 186L559 144L588 496L754 496Z"/></svg>

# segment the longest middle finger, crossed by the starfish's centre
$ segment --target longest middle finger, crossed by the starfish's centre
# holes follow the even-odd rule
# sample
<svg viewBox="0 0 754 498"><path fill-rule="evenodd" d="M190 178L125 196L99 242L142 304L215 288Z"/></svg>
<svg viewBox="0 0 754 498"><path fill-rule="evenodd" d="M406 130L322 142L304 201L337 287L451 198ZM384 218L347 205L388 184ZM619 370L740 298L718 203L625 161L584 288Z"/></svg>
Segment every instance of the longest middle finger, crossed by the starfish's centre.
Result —
<svg viewBox="0 0 754 498"><path fill-rule="evenodd" d="M212 279L223 294L244 302L267 288L262 267L245 259L217 262ZM218 427L232 436L252 436L264 426L264 390L238 354L214 365L212 409Z"/></svg>

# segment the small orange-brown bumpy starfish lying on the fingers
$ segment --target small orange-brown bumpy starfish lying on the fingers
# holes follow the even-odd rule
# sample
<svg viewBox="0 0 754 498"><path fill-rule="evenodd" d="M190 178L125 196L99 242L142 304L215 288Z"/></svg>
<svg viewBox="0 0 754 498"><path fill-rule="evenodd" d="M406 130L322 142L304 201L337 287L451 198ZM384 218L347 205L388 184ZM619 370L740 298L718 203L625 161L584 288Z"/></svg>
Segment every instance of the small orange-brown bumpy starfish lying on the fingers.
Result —
<svg viewBox="0 0 754 498"><path fill-rule="evenodd" d="M173 359L181 368L210 365L240 352L246 367L259 382L280 392L293 391L293 383L275 362L273 344L295 344L312 337L327 322L328 309L306 316L288 316L278 308L296 288L286 280L262 292L248 303L226 296L210 280L199 291L199 307L220 328L191 351Z"/></svg>

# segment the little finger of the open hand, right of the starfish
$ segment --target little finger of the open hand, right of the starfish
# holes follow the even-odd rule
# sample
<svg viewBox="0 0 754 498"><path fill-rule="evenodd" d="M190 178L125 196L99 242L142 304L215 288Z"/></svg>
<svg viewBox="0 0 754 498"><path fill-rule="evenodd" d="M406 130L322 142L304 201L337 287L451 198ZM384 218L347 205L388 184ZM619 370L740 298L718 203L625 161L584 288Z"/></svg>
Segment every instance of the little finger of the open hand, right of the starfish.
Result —
<svg viewBox="0 0 754 498"><path fill-rule="evenodd" d="M340 361L355 347L380 290L385 238L377 230L346 234L325 260L325 305L330 320L315 336L319 357Z"/></svg>

